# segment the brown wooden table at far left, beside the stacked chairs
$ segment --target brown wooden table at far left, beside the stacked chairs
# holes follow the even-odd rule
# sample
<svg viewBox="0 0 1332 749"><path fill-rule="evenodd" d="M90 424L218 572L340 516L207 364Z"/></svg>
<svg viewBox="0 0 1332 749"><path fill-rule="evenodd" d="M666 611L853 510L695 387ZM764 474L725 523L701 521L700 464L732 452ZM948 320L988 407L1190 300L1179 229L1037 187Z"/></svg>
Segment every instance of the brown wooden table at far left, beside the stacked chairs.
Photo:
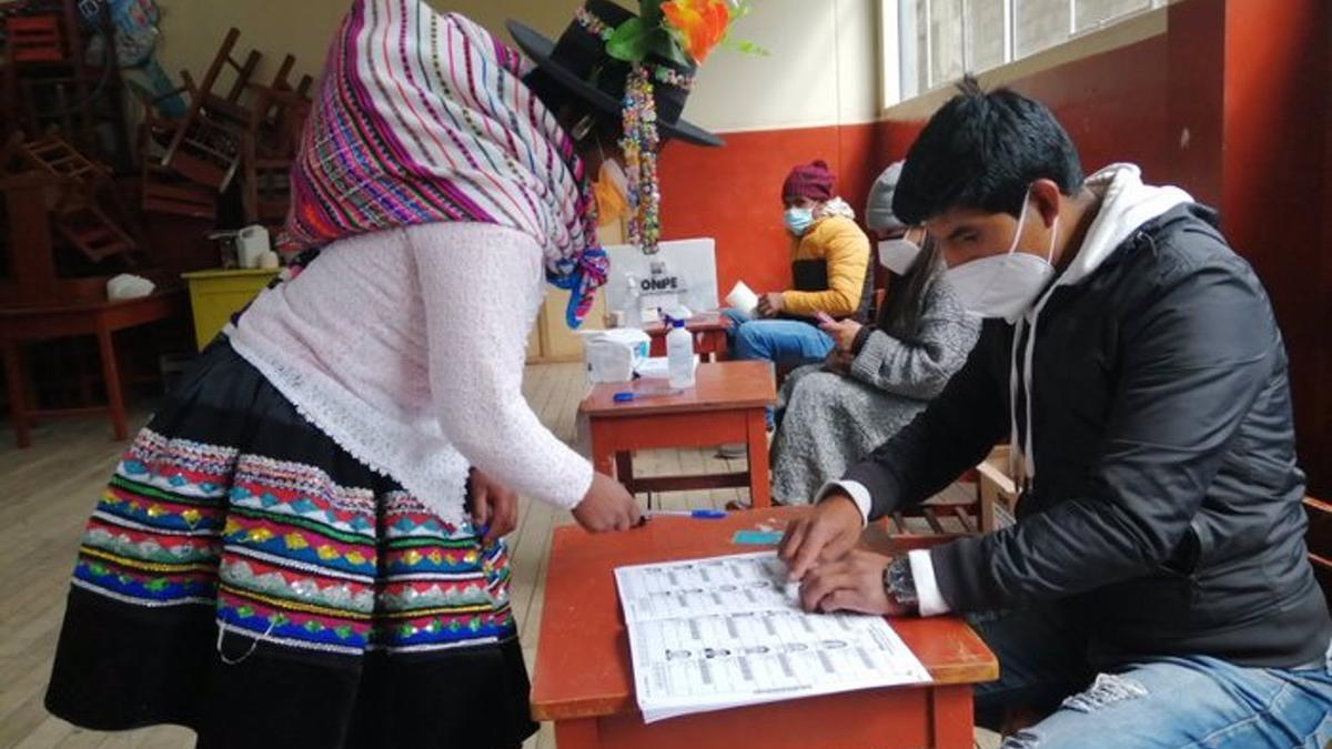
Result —
<svg viewBox="0 0 1332 749"><path fill-rule="evenodd" d="M5 380L9 382L9 408L13 410L13 430L20 448L32 444L32 422L39 416L72 416L81 413L109 413L117 440L129 434L125 424L125 400L116 367L113 333L125 328L147 325L176 315L185 315L185 296L180 289L153 293L125 301L88 301L51 307L0 308L0 345L4 347ZM97 353L107 381L107 405L39 410L27 398L27 377L23 367L23 344L69 336L97 336Z"/></svg>

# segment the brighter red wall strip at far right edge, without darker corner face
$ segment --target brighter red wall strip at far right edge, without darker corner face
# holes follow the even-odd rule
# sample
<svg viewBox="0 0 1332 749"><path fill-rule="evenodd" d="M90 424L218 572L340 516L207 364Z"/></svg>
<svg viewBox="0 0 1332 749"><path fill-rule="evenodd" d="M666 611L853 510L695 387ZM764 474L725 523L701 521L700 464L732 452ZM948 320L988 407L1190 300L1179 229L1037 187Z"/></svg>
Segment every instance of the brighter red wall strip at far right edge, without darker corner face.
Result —
<svg viewBox="0 0 1332 749"><path fill-rule="evenodd" d="M1301 464L1311 493L1328 497L1332 215L1315 207L1332 192L1328 164L1319 164L1332 128L1325 109L1319 116L1332 88L1332 4L1229 0L1224 9L1221 223L1272 297L1291 355Z"/></svg>

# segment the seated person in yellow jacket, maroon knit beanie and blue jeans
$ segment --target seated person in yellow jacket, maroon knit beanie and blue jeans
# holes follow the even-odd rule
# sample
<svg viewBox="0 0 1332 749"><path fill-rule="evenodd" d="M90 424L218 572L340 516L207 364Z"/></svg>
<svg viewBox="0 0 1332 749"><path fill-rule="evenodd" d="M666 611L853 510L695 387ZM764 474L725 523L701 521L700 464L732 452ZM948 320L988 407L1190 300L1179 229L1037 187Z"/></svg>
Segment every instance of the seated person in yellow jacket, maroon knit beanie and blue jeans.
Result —
<svg viewBox="0 0 1332 749"><path fill-rule="evenodd" d="M794 237L791 288L759 297L757 316L726 311L731 356L767 360L779 369L823 361L835 348L819 329L819 313L834 320L868 317L874 287L870 239L855 212L836 197L836 176L825 161L791 169L782 184L783 221Z"/></svg>

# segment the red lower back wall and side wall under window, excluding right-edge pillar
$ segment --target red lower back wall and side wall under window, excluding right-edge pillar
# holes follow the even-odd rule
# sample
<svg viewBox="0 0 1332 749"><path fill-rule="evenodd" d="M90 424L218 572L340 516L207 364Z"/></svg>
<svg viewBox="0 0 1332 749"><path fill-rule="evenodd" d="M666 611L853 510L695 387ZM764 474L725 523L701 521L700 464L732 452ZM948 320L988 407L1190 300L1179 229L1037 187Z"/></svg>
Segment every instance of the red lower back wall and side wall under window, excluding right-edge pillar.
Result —
<svg viewBox="0 0 1332 749"><path fill-rule="evenodd" d="M1014 84L1050 104L1083 153L1088 172L1136 161L1160 179L1167 153L1166 37L1078 60ZM860 213L874 179L906 156L923 123L884 121L726 133L723 148L673 145L662 153L662 235L717 239L718 288L737 280L755 291L790 281L781 185L799 163L826 160L842 196ZM1130 136L1128 133L1132 133Z"/></svg>

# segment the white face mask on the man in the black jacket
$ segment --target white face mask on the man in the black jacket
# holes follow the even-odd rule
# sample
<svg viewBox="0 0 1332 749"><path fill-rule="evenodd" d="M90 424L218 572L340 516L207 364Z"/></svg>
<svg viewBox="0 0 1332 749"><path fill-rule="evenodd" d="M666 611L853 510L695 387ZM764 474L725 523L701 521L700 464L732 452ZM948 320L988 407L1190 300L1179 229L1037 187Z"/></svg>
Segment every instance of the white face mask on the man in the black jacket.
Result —
<svg viewBox="0 0 1332 749"><path fill-rule="evenodd" d="M1030 197L1031 191L1027 191ZM1006 255L991 255L956 268L950 268L944 277L962 297L962 304L980 317L1003 317L1016 323L1036 300L1042 289L1050 284L1055 267L1050 264L1055 255L1055 240L1059 237L1059 217L1050 229L1050 249L1046 257L1018 252L1018 240L1027 220L1027 199L1022 201L1018 216L1018 232Z"/></svg>

